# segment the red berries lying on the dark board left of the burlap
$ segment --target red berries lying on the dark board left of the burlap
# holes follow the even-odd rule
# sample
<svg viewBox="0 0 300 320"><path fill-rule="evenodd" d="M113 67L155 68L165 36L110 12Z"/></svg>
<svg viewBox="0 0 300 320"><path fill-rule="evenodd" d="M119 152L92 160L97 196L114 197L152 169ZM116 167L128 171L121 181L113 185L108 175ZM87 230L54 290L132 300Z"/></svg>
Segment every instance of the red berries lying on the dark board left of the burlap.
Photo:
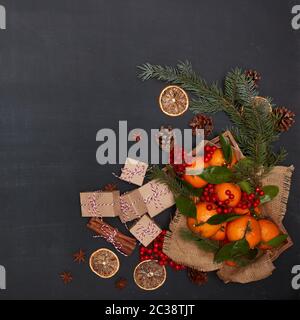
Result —
<svg viewBox="0 0 300 320"><path fill-rule="evenodd" d="M157 260L161 266L169 265L176 271L184 270L186 268L185 266L175 263L162 251L166 233L166 230L161 232L161 234L155 239L152 248L140 248L140 261Z"/></svg>

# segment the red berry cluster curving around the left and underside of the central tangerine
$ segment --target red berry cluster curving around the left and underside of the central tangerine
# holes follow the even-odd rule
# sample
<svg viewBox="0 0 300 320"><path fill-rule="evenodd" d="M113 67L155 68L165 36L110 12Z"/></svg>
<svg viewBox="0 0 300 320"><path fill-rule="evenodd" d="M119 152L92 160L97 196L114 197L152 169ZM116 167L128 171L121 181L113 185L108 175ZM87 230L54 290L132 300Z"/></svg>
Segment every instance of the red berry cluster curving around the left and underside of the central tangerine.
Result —
<svg viewBox="0 0 300 320"><path fill-rule="evenodd" d="M200 197L200 201L209 202L206 207L208 211L216 209L217 213L231 213L233 208L228 207L228 205L230 204L230 201L234 199L234 194L232 194L230 190L226 190L225 193L228 195L228 199L221 201L215 192L215 185L209 183L203 189L203 194Z"/></svg>

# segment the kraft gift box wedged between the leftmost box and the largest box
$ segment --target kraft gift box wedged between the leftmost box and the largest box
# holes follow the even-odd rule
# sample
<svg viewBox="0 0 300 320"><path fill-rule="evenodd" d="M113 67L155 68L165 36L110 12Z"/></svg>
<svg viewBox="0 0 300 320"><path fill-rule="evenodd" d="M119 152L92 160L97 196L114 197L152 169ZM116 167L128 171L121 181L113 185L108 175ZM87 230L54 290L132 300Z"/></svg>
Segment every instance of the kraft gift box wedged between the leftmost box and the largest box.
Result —
<svg viewBox="0 0 300 320"><path fill-rule="evenodd" d="M120 219L123 223L140 218L147 212L147 207L138 189L120 197Z"/></svg>

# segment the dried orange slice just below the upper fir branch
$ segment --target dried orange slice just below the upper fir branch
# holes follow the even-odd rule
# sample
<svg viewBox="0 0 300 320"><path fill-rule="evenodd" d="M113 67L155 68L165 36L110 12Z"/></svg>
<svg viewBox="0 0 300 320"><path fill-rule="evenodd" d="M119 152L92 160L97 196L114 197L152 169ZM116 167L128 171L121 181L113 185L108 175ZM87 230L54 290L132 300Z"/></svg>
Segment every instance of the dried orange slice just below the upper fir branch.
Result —
<svg viewBox="0 0 300 320"><path fill-rule="evenodd" d="M159 96L161 110L170 117L182 115L189 107L187 93L178 86L164 88Z"/></svg>

